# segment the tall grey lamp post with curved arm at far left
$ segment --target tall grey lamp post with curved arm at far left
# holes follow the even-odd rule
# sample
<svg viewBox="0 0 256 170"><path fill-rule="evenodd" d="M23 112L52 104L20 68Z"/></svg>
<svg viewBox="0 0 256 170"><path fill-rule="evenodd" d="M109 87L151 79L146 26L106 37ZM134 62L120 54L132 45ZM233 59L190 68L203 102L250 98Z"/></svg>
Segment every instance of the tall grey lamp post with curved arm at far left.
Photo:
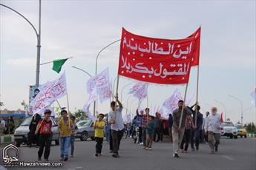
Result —
<svg viewBox="0 0 256 170"><path fill-rule="evenodd" d="M33 26L33 24L25 17L23 16L21 13L19 13L18 11L14 10L11 7L8 7L4 4L0 4L1 7L6 7L9 10L12 10L14 13L17 13L19 16L21 16L22 18L24 18L24 20L27 21L28 24L30 24L30 26L33 28L33 30L36 33L36 38L37 38L37 57L36 57L36 86L39 86L39 72L40 72L40 53L41 53L41 0L39 0L39 32L37 32L36 27Z"/></svg>

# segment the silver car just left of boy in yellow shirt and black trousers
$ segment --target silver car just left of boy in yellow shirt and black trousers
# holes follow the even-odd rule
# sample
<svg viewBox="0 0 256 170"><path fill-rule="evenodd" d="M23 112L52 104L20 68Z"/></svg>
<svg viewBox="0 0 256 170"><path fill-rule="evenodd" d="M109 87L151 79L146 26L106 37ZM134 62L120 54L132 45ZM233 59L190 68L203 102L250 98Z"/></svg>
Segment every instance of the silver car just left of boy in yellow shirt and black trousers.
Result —
<svg viewBox="0 0 256 170"><path fill-rule="evenodd" d="M76 132L76 138L79 138L82 141L88 140L88 137L91 137L91 140L94 140L94 129L93 129L93 120L85 119L80 120L76 123L78 128Z"/></svg>

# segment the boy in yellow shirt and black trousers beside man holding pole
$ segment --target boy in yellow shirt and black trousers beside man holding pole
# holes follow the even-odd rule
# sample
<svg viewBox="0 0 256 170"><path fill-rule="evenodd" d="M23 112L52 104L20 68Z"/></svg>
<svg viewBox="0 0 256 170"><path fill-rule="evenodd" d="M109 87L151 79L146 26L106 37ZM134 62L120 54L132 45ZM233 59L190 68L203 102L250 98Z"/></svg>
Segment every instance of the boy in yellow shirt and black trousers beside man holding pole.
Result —
<svg viewBox="0 0 256 170"><path fill-rule="evenodd" d="M104 126L105 121L103 121L104 115L101 113L98 116L99 120L96 120L94 123L94 129L95 129L95 141L96 141L96 157L99 157L102 155L102 143L104 138Z"/></svg>

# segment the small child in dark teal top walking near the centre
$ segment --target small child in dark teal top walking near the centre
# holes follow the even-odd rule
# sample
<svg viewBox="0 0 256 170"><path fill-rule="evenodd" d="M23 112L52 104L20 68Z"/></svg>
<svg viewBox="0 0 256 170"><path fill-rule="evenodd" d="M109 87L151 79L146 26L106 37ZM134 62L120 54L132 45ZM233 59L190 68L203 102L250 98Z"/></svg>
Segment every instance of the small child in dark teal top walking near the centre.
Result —
<svg viewBox="0 0 256 170"><path fill-rule="evenodd" d="M152 141L153 141L153 134L154 134L154 116L149 117L149 122L146 127L146 150L152 150Z"/></svg>

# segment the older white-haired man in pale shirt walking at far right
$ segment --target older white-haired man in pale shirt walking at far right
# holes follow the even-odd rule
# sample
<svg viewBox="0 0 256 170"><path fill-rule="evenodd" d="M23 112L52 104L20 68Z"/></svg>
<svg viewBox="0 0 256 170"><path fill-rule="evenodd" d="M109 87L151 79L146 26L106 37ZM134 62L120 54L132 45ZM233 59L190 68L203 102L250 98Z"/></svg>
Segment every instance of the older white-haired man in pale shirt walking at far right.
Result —
<svg viewBox="0 0 256 170"><path fill-rule="evenodd" d="M218 145L220 143L220 115L217 114L217 108L211 108L211 115L206 118L204 129L208 134L209 146L211 154L218 151ZM215 140L215 142L214 142Z"/></svg>

